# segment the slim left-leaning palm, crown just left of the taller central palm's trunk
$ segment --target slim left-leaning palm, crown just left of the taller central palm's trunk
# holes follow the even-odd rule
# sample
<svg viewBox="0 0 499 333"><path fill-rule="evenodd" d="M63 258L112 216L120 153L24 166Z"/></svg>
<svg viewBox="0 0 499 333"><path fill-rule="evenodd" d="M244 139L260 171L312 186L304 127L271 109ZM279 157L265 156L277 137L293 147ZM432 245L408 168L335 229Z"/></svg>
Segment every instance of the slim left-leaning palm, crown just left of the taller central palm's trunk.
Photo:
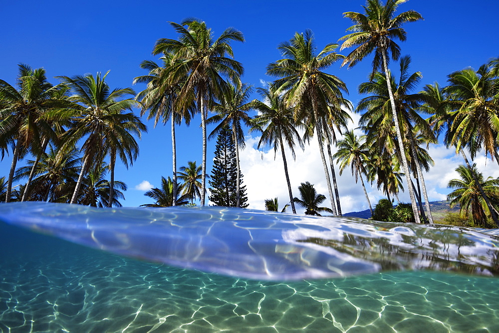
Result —
<svg viewBox="0 0 499 333"><path fill-rule="evenodd" d="M302 124L294 120L293 109L286 106L283 95L277 91L275 85L268 84L268 88L266 89L256 88L256 92L263 98L263 101L255 99L251 102L253 109L258 111L259 114L253 119L253 126L250 131L258 130L261 132L258 149L262 144L272 146L274 148L274 159L280 147L291 209L293 210L293 214L296 214L291 182L287 170L286 154L284 153L284 144L291 151L294 160L295 144L298 144L303 149L303 142L297 131L297 129L302 127Z"/></svg>

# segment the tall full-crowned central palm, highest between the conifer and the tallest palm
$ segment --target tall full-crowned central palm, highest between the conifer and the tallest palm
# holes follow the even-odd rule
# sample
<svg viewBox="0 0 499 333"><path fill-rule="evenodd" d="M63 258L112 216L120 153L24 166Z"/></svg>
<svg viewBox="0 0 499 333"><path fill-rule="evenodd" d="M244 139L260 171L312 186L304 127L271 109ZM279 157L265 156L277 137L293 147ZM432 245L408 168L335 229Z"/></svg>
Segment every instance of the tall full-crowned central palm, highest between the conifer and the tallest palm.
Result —
<svg viewBox="0 0 499 333"><path fill-rule="evenodd" d="M330 105L340 105L342 92L347 92L347 88L338 77L322 70L343 59L342 55L334 52L337 46L330 43L315 53L313 32L306 30L305 33L295 33L291 40L282 42L278 47L284 58L267 66L268 75L279 77L275 84L286 91L287 105L296 107L295 119L313 119L311 123L315 124L331 207L335 207L335 204L324 157L321 112L329 111Z"/></svg>

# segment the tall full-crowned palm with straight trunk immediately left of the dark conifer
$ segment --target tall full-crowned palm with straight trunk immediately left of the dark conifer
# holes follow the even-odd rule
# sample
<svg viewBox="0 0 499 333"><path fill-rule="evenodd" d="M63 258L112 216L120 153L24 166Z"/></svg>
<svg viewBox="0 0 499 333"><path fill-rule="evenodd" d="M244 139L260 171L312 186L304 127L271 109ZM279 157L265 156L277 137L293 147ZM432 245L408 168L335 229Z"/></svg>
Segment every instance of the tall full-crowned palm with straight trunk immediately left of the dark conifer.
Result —
<svg viewBox="0 0 499 333"><path fill-rule="evenodd" d="M156 42L153 54L174 54L170 79L178 82L186 78L179 92L179 109L187 110L193 102L201 113L203 129L203 161L201 179L201 206L205 205L206 189L206 105L213 96L221 97L229 90L223 76L240 83L243 65L234 60L230 42L244 41L241 31L228 28L213 40L212 30L205 22L188 18L181 24L170 22L180 34L179 40L162 38ZM228 57L228 56L229 57Z"/></svg>

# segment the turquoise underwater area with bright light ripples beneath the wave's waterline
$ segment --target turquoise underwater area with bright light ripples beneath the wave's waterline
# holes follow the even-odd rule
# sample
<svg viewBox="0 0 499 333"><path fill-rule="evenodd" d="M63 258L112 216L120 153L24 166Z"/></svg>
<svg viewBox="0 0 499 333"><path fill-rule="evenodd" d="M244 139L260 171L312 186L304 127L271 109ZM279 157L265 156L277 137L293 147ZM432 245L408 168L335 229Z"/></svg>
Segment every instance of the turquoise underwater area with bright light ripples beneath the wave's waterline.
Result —
<svg viewBox="0 0 499 333"><path fill-rule="evenodd" d="M246 280L3 223L0 244L2 332L499 332L497 278L407 271Z"/></svg>

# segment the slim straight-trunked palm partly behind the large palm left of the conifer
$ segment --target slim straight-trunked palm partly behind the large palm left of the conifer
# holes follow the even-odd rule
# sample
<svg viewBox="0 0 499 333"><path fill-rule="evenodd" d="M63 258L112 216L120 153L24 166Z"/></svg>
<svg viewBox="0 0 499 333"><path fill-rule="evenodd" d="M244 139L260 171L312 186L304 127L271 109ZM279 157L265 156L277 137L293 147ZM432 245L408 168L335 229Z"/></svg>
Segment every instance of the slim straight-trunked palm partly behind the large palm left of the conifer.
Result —
<svg viewBox="0 0 499 333"><path fill-rule="evenodd" d="M179 78L179 82L171 80L170 70L172 69L174 55L172 53L164 53L160 58L163 64L159 66L156 62L144 60L140 67L149 70L148 75L136 77L133 83L147 83L147 88L141 91L135 97L142 103L141 116L146 110L149 110L147 119L154 118L154 127L161 119L163 124L168 120L172 121L172 164L173 164L173 191L174 198L177 194L177 147L175 138L175 124L180 125L182 119L185 120L187 126L191 122L191 116L195 113L195 104L191 104L186 109L186 112L180 113L176 108L178 93L182 86L182 81L185 78ZM175 206L177 203L173 202Z"/></svg>

